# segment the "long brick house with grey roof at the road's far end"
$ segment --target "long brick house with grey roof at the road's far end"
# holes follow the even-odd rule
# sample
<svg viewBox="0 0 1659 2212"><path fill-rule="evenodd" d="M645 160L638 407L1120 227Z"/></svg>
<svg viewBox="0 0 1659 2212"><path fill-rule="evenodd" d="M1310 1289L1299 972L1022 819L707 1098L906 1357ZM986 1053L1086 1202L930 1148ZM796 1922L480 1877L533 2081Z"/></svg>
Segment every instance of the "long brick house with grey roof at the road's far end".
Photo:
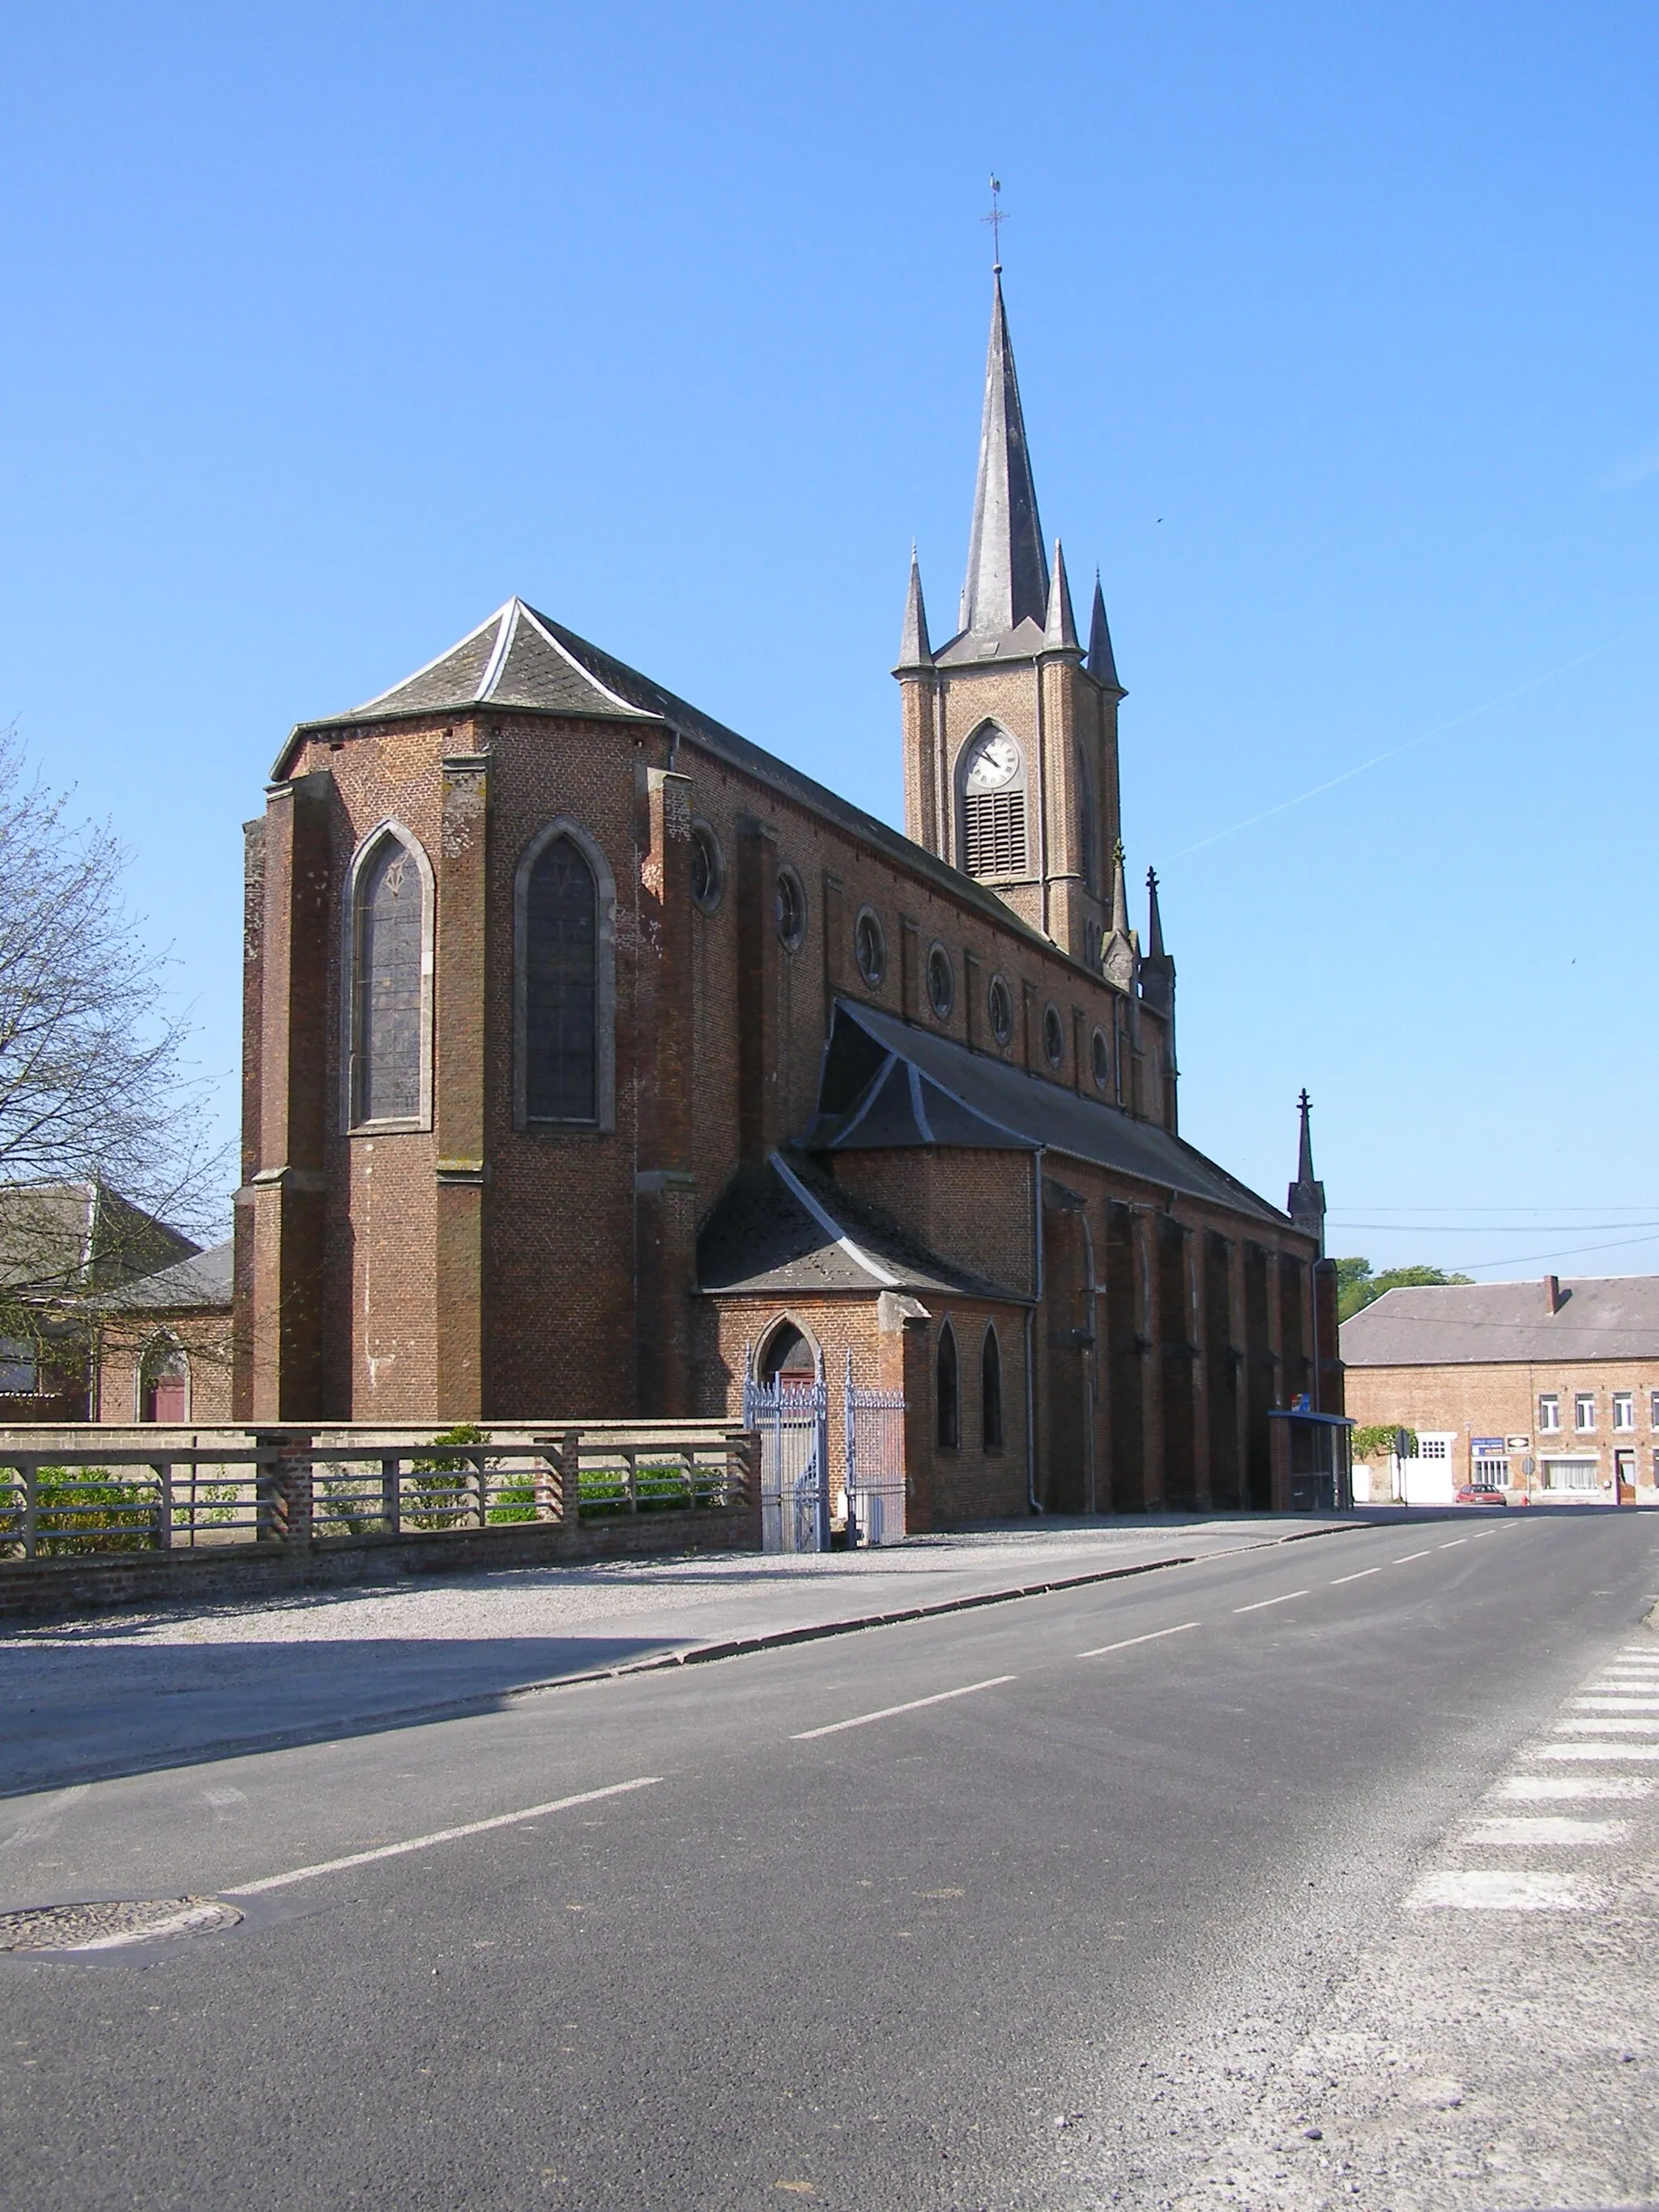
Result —
<svg viewBox="0 0 1659 2212"><path fill-rule="evenodd" d="M1418 1433L1411 1504L1659 1502L1659 1276L1389 1290L1343 1323L1347 1409ZM1400 1469L1371 1464L1376 1498ZM1356 1475L1358 1484L1358 1475Z"/></svg>

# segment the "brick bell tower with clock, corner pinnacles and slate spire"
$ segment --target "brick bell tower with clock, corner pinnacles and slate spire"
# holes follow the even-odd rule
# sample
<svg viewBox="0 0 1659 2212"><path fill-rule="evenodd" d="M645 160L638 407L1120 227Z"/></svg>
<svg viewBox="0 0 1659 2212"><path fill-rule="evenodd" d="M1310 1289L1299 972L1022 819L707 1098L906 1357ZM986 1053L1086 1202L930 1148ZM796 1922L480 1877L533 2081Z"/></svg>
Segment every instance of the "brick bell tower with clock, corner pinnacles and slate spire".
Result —
<svg viewBox="0 0 1659 2212"><path fill-rule="evenodd" d="M1062 951L1099 967L1119 834L1124 686L1099 577L1084 646L1060 540L1053 564L1044 549L1000 263L958 628L931 646L911 549L894 675L905 832L987 883Z"/></svg>

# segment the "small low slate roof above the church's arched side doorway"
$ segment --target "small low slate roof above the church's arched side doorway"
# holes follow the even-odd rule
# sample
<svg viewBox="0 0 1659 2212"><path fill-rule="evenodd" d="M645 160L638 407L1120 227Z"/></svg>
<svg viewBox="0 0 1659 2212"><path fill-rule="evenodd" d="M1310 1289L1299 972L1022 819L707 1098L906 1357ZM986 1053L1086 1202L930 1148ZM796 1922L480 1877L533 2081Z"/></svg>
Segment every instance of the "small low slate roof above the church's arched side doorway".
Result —
<svg viewBox="0 0 1659 2212"><path fill-rule="evenodd" d="M728 1183L697 1237L697 1285L776 1296L931 1290L1031 1303L929 1252L799 1152L774 1152Z"/></svg>

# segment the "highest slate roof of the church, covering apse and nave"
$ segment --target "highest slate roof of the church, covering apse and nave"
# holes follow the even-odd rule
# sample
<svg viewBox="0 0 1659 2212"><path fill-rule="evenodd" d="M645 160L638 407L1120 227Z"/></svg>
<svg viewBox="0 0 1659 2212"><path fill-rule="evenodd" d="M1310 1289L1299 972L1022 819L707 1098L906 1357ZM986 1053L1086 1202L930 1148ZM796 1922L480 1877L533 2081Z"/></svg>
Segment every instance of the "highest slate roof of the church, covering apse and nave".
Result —
<svg viewBox="0 0 1659 2212"><path fill-rule="evenodd" d="M1040 646L1042 630L1035 630L1035 637ZM577 637L575 630L566 630L551 615L540 615L524 599L509 599L507 606L498 606L489 622L482 622L469 637L462 637L458 646L440 653L436 661L427 661L425 668L405 677L403 684L394 684L392 690L365 699L363 706L347 708L343 714L294 723L272 774L276 781L288 776L296 748L312 734L369 728L400 714L467 714L484 706L531 714L650 721L677 730L692 745L701 745L717 759L754 776L757 783L768 783L810 812L834 821L852 836L874 845L876 852L898 860L900 867L911 869L911 874L931 878L940 889L949 891L962 905L975 907L987 920L998 922L998 927L1011 929L1033 945L1042 945L1048 953L1055 951L1048 938L1022 922L1011 907L1004 907L995 891L975 883L973 876L962 876L922 845L911 845L907 836L876 821L874 814L865 814L863 807L852 805L838 792L801 774L799 768L781 761L774 752L765 752L761 745L750 743L750 739L739 737L737 730L728 730L726 723L714 721L712 714L703 714L701 708L664 690L661 684L653 684L650 677L637 668L628 668L626 661L602 653L599 646L588 644L586 637Z"/></svg>

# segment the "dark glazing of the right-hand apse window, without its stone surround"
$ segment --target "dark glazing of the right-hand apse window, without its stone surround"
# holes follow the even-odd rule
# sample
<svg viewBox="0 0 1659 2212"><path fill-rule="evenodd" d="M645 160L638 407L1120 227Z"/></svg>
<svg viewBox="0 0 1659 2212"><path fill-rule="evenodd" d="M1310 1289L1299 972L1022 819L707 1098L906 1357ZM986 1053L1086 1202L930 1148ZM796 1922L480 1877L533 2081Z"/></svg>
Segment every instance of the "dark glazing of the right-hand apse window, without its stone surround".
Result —
<svg viewBox="0 0 1659 2212"><path fill-rule="evenodd" d="M524 1117L599 1117L599 887L575 838L531 869L524 911Z"/></svg>

